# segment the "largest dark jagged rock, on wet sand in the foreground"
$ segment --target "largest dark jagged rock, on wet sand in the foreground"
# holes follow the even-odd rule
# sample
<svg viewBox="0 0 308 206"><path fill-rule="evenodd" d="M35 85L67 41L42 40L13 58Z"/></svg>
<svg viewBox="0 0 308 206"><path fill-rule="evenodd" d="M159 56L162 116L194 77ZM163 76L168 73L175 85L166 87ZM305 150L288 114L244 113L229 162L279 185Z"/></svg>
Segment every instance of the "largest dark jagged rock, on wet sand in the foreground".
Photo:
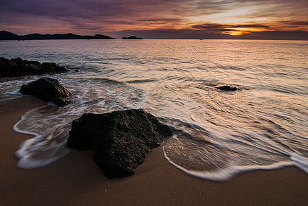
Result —
<svg viewBox="0 0 308 206"><path fill-rule="evenodd" d="M67 147L95 150L95 163L112 179L133 175L148 152L171 135L168 126L142 109L85 113L72 122Z"/></svg>

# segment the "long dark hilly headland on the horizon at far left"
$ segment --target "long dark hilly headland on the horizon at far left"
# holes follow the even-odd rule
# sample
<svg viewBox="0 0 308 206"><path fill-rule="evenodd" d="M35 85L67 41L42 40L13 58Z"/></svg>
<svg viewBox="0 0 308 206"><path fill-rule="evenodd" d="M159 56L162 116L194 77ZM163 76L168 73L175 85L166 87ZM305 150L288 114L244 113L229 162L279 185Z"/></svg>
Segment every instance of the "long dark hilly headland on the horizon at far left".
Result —
<svg viewBox="0 0 308 206"><path fill-rule="evenodd" d="M36 39L114 39L110 36L105 36L102 34L96 34L95 36L82 36L76 34L27 34L19 36L13 34L12 32L1 31L0 40L14 40L14 39L23 39L23 40L36 40Z"/></svg>

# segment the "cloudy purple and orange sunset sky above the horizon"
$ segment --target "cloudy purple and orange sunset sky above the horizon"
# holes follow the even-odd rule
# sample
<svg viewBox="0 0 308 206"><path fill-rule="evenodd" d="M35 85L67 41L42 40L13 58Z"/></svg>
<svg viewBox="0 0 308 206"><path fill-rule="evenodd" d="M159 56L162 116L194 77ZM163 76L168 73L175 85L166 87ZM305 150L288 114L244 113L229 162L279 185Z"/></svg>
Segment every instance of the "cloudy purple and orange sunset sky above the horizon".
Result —
<svg viewBox="0 0 308 206"><path fill-rule="evenodd" d="M0 30L308 40L308 0L0 0Z"/></svg>

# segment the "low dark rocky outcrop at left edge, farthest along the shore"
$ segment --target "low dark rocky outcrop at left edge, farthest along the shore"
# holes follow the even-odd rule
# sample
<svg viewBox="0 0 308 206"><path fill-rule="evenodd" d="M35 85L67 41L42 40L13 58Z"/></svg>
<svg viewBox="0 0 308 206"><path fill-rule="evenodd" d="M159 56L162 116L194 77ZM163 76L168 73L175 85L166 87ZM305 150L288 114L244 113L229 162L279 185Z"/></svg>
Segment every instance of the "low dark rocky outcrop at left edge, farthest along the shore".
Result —
<svg viewBox="0 0 308 206"><path fill-rule="evenodd" d="M45 73L63 73L67 71L69 71L67 67L62 67L56 63L41 63L23 60L21 58L13 58L9 60L0 57L0 78L39 75Z"/></svg>

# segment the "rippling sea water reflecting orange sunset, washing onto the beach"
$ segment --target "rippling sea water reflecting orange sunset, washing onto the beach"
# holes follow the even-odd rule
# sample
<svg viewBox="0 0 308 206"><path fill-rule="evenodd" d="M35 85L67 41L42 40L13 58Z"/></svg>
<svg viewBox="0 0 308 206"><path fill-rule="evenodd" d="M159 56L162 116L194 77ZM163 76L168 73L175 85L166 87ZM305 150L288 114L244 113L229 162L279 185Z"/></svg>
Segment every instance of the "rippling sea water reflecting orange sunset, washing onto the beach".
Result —
<svg viewBox="0 0 308 206"><path fill-rule="evenodd" d="M308 173L308 41L0 41L0 56L73 70L47 76L74 93L72 104L35 108L14 126L34 135L16 152L20 168L67 155L83 113L143 108L173 130L164 156L190 175L225 181L290 165ZM41 77L1 81L0 100Z"/></svg>

